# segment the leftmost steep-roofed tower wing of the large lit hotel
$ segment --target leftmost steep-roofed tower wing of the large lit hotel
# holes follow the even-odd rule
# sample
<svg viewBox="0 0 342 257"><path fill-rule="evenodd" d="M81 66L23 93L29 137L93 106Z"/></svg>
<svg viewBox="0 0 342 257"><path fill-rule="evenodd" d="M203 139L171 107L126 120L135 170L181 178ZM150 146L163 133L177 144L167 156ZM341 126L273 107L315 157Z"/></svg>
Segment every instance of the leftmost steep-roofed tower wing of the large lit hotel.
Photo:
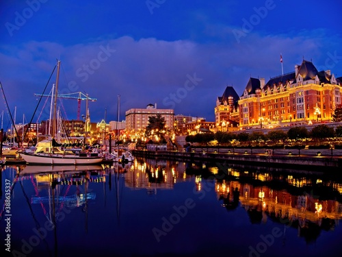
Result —
<svg viewBox="0 0 342 257"><path fill-rule="evenodd" d="M239 95L233 86L227 86L222 97L218 97L215 107L215 125L217 130L228 131L239 124ZM234 127L234 128L233 128Z"/></svg>

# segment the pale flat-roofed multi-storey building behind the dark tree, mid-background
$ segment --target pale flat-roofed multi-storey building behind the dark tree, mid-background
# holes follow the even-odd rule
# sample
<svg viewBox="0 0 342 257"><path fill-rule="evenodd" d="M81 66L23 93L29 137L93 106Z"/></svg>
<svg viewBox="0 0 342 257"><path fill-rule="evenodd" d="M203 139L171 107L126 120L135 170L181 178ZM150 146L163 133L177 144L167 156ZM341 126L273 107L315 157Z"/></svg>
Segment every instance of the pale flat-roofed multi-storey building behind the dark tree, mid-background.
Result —
<svg viewBox="0 0 342 257"><path fill-rule="evenodd" d="M148 117L157 116L165 119L166 130L174 130L174 110L157 109L157 104L148 104L146 108L132 108L127 110L126 116L126 132L131 138L140 138L144 136L144 130L148 125Z"/></svg>

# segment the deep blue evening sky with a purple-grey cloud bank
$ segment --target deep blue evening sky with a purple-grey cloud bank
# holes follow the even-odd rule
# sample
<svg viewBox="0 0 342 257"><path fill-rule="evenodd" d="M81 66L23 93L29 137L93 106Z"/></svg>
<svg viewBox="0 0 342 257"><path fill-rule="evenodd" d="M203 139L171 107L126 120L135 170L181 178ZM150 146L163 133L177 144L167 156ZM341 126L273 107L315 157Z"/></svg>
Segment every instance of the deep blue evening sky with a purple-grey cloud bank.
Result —
<svg viewBox="0 0 342 257"><path fill-rule="evenodd" d="M117 95L122 119L130 108L157 103L214 121L226 86L241 95L250 76L280 75L280 53L284 73L304 56L341 77L341 7L337 0L3 0L0 81L17 121L31 119L34 93L44 90L57 58L60 93L97 99L92 122L106 108L107 121L116 119ZM48 119L45 100L34 122ZM62 110L76 119L77 101L64 100Z"/></svg>

